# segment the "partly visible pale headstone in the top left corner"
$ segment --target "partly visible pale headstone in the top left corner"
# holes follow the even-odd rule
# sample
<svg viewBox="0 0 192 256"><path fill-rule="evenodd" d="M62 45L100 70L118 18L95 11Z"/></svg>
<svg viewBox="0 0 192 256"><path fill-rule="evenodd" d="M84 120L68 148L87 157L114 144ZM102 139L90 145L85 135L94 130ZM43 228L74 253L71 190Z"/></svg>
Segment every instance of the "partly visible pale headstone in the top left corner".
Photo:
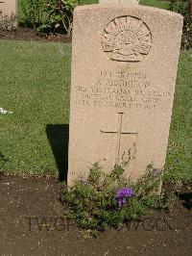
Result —
<svg viewBox="0 0 192 256"><path fill-rule="evenodd" d="M16 0L0 0L0 29L16 28Z"/></svg>

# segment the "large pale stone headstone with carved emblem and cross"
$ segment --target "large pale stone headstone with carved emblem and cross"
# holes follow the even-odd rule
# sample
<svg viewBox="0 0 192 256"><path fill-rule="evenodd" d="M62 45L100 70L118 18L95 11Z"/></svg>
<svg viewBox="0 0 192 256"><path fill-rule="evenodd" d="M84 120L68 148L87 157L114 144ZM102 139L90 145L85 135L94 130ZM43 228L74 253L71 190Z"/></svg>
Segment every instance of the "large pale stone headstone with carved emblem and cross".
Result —
<svg viewBox="0 0 192 256"><path fill-rule="evenodd" d="M139 5L74 11L68 185L96 162L136 180L165 163L182 16Z"/></svg>

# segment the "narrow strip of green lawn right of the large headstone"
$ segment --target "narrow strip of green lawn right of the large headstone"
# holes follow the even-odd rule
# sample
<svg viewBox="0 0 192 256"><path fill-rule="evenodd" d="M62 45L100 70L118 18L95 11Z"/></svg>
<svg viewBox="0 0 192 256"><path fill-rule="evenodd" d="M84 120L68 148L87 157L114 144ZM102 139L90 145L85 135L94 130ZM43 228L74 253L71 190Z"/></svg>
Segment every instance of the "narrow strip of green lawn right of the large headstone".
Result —
<svg viewBox="0 0 192 256"><path fill-rule="evenodd" d="M165 181L192 182L192 50L182 51L170 129Z"/></svg>

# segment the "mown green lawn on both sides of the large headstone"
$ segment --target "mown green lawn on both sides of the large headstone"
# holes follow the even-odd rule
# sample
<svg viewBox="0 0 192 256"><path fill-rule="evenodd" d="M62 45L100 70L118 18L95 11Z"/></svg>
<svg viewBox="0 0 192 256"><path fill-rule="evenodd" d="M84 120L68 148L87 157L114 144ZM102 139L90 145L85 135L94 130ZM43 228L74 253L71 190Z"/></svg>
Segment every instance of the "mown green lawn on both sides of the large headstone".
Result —
<svg viewBox="0 0 192 256"><path fill-rule="evenodd" d="M13 112L0 115L0 168L58 176L66 170L71 46L0 41L0 52L0 107ZM165 181L192 181L191 69L192 51L181 52Z"/></svg>

